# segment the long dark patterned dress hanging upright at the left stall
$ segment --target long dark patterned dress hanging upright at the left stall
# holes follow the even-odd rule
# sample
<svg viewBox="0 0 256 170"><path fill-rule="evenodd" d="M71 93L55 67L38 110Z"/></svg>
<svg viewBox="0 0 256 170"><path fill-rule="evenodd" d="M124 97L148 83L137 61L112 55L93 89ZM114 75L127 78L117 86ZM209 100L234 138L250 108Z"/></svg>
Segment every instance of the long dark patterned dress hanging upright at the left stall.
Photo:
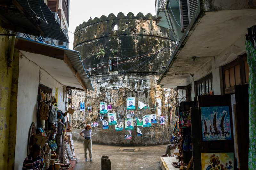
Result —
<svg viewBox="0 0 256 170"><path fill-rule="evenodd" d="M56 150L56 154L59 156L60 162L63 163L64 159L64 135L63 135L63 128L64 124L62 122L58 122L57 124L57 134L55 136L56 144L58 146Z"/></svg>

